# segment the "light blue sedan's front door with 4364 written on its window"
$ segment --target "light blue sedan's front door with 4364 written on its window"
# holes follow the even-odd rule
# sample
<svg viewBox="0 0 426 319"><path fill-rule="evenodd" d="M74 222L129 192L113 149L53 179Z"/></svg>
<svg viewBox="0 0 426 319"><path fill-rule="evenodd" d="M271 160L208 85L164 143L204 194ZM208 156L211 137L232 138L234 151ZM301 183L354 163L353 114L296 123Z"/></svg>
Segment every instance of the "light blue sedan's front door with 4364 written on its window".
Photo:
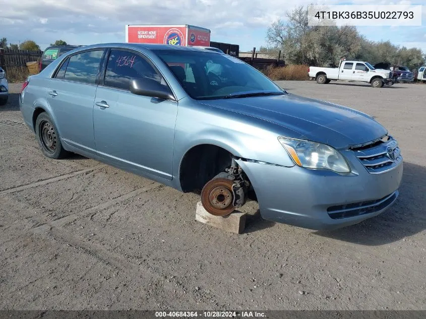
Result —
<svg viewBox="0 0 426 319"><path fill-rule="evenodd" d="M134 78L167 85L139 53L111 49L93 111L97 153L135 173L171 179L177 102L131 93Z"/></svg>

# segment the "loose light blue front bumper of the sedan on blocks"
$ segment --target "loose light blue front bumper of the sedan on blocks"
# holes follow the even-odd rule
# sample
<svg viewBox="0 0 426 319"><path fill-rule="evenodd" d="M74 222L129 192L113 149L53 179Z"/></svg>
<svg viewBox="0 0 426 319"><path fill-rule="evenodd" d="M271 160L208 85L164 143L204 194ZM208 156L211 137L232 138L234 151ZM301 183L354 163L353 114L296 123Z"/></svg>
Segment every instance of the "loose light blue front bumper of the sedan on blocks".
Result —
<svg viewBox="0 0 426 319"><path fill-rule="evenodd" d="M262 218L314 230L359 223L384 212L397 199L400 163L370 174L353 157L349 175L299 166L238 161L252 182Z"/></svg>

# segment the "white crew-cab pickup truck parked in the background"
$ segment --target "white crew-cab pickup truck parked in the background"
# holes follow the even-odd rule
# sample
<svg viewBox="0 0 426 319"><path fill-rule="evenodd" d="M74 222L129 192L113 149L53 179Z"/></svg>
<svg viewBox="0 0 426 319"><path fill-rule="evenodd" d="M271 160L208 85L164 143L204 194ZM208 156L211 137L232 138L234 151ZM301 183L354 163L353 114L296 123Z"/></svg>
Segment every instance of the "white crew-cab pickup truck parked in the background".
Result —
<svg viewBox="0 0 426 319"><path fill-rule="evenodd" d="M338 68L309 67L309 76L319 84L336 81L358 81L370 83L374 88L381 88L384 84L391 86L394 81L389 70L376 70L370 63L362 61L340 61Z"/></svg>

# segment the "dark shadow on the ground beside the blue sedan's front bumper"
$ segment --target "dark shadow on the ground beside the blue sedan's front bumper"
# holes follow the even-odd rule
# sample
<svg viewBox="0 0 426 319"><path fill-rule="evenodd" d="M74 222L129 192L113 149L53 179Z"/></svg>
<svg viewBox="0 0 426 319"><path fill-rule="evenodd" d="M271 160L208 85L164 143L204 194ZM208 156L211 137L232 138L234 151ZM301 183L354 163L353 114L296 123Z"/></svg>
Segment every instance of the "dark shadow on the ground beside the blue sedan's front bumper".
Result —
<svg viewBox="0 0 426 319"><path fill-rule="evenodd" d="M359 224L313 234L368 246L379 246L426 229L426 167L404 162L396 203L377 217Z"/></svg>

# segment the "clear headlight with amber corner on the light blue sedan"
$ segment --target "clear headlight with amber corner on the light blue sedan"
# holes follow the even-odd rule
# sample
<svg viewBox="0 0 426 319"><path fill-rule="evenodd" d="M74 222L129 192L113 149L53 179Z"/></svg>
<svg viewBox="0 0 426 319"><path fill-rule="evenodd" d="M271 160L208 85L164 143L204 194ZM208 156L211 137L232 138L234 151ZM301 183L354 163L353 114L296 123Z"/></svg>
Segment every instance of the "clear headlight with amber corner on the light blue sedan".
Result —
<svg viewBox="0 0 426 319"><path fill-rule="evenodd" d="M298 166L329 169L337 173L350 172L350 168L342 154L331 146L285 137L279 137L278 140Z"/></svg>

